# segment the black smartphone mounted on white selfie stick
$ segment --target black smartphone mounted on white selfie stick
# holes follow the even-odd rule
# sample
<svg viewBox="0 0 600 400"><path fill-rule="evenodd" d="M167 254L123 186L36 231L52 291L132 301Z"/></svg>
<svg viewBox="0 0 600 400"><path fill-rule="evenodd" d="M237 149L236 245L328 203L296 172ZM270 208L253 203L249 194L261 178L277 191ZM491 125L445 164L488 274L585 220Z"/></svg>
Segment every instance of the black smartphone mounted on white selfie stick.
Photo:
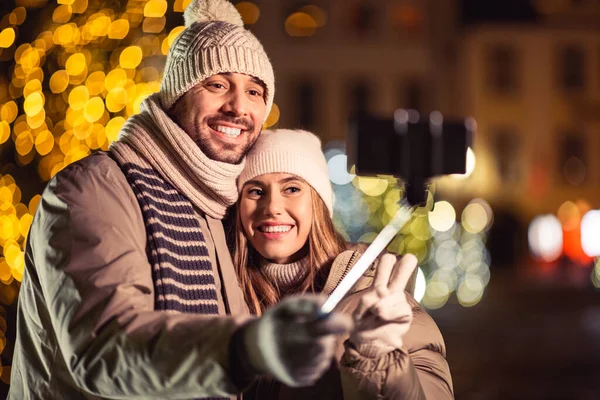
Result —
<svg viewBox="0 0 600 400"><path fill-rule="evenodd" d="M419 123L418 114L411 118L409 111L400 109L391 121L363 116L351 125L348 163L356 165L357 174L407 177L406 196L400 200L396 215L323 304L323 316L335 308L410 220L414 208L426 203L427 181L466 172L467 148L476 126L473 119L445 123L439 112L431 113L427 122ZM397 151L390 151L393 149Z"/></svg>

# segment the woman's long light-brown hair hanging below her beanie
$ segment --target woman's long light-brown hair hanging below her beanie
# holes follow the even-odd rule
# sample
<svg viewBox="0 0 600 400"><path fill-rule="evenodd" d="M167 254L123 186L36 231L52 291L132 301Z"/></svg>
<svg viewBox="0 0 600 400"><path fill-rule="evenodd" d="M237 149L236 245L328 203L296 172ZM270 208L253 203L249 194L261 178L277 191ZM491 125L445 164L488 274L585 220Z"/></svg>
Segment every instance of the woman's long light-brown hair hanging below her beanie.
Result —
<svg viewBox="0 0 600 400"><path fill-rule="evenodd" d="M253 314L261 315L267 307L277 304L285 295L321 291L333 260L345 250L346 242L335 230L327 206L317 192L312 187L310 189L313 218L306 243L307 271L304 279L285 293L260 271L261 255L248 242L240 217L240 202L236 205L233 262L244 299Z"/></svg>

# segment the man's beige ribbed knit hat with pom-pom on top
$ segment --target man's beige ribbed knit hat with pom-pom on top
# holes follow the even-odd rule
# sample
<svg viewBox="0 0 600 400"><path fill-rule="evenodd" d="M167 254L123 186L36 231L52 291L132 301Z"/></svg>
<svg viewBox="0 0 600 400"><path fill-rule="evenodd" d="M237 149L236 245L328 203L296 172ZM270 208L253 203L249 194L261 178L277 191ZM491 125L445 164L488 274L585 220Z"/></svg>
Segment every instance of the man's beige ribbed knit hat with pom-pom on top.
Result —
<svg viewBox="0 0 600 400"><path fill-rule="evenodd" d="M160 86L161 104L169 110L188 90L213 75L237 72L266 86L267 114L275 95L273 67L261 43L227 0L192 0L183 14L185 29L175 39Z"/></svg>

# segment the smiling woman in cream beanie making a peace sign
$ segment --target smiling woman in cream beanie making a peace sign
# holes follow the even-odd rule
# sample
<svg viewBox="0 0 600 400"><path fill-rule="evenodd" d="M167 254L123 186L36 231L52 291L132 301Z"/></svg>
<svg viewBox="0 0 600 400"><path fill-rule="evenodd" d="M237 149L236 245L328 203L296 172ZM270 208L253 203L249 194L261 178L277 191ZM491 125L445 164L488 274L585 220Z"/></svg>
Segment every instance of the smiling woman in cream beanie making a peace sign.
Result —
<svg viewBox="0 0 600 400"><path fill-rule="evenodd" d="M260 315L295 293L330 294L359 256L332 222L333 193L319 139L306 131L263 132L238 180L234 264L250 310ZM385 255L337 311L356 326L339 343L339 365L315 385L261 379L260 399L453 398L445 346L435 322L404 291L416 265ZM394 265L395 264L395 265Z"/></svg>

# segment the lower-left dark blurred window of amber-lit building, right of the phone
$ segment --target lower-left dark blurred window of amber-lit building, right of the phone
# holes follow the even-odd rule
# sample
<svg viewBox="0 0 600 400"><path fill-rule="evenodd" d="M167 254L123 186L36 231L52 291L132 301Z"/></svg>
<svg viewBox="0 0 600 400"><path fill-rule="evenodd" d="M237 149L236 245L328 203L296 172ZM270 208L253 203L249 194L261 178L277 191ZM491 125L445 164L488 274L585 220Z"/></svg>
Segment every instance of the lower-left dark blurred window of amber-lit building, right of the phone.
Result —
<svg viewBox="0 0 600 400"><path fill-rule="evenodd" d="M519 135L515 127L501 126L493 129L494 149L500 179L504 183L517 183L521 178Z"/></svg>

